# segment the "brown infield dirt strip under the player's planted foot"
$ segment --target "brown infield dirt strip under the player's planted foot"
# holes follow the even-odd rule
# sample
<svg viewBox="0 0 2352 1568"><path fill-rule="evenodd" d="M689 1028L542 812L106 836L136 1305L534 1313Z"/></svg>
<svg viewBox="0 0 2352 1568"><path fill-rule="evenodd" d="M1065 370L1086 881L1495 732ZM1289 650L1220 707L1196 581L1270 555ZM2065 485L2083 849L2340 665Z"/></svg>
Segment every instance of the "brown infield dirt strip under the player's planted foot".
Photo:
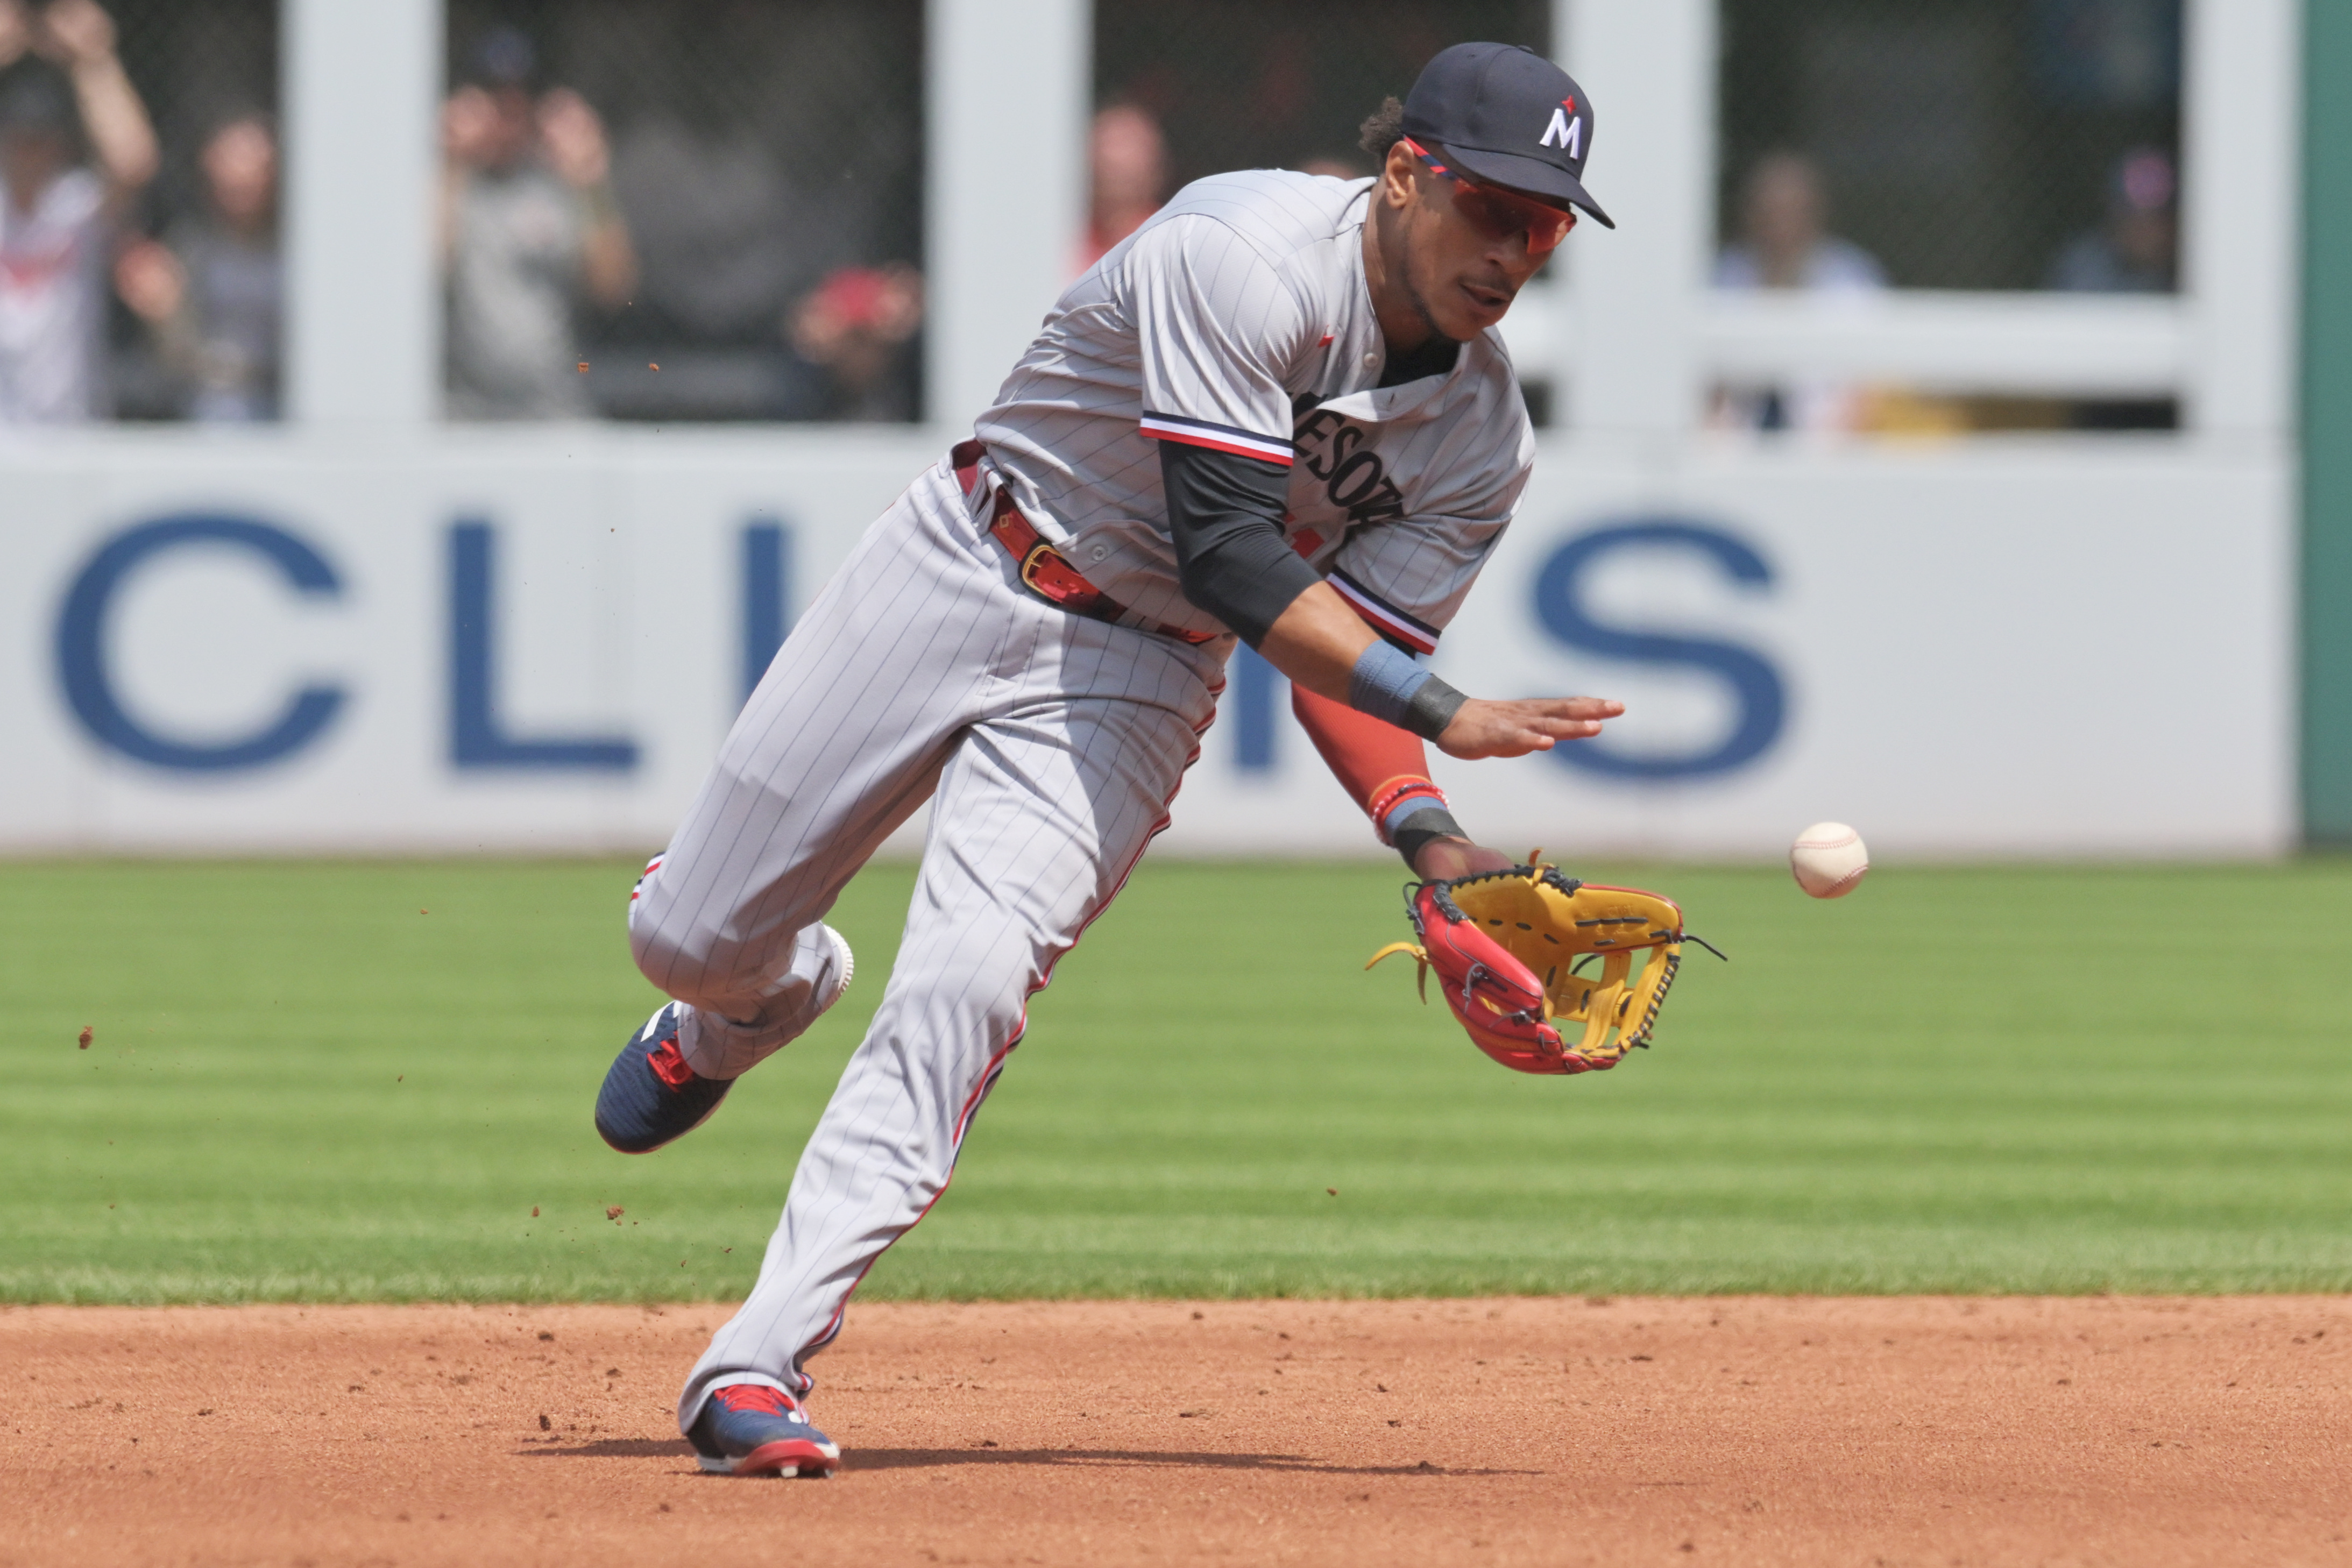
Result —
<svg viewBox="0 0 2352 1568"><path fill-rule="evenodd" d="M887 1305L830 1481L724 1309L0 1312L5 1563L2347 1563L2345 1298Z"/></svg>

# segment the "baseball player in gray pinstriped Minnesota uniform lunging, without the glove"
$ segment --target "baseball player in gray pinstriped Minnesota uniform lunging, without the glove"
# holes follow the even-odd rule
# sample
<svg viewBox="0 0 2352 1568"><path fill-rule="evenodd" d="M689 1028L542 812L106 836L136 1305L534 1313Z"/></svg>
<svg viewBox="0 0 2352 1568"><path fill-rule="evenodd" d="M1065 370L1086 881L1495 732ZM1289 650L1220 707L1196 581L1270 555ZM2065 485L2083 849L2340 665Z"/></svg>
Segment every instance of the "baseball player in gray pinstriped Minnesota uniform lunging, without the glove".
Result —
<svg viewBox="0 0 2352 1568"><path fill-rule="evenodd" d="M1510 865L1428 778L1599 733L1416 661L1534 456L1496 334L1583 209L1592 106L1503 45L1364 125L1374 179L1185 186L1047 315L995 407L875 522L776 654L630 898L673 1001L597 1095L623 1152L701 1124L849 987L823 924L924 799L898 966L793 1173L760 1281L687 1378L706 1469L828 1474L802 1408L875 1258L946 1190L1028 997L1117 896L1247 642L1421 877Z"/></svg>

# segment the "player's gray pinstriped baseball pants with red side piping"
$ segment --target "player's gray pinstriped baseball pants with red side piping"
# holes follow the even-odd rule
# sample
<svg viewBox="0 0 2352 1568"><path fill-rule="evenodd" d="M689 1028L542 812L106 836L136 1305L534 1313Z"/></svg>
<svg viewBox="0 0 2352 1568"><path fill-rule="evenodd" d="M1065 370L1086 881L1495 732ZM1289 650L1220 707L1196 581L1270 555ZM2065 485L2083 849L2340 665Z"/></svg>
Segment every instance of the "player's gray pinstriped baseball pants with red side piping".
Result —
<svg viewBox="0 0 2352 1568"><path fill-rule="evenodd" d="M941 463L868 529L776 654L630 905L637 966L734 1077L833 992L816 929L931 797L898 964L809 1135L750 1298L677 1401L804 1394L858 1279L946 1190L1028 997L1167 825L1230 639L1073 616L1021 588Z"/></svg>

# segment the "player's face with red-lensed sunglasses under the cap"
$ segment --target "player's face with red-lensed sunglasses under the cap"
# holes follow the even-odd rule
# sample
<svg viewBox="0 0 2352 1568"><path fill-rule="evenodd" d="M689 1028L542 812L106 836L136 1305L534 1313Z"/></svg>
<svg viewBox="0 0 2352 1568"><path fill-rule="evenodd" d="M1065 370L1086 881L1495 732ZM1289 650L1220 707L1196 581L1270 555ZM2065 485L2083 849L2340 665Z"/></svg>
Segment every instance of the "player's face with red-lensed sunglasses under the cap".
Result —
<svg viewBox="0 0 2352 1568"><path fill-rule="evenodd" d="M1503 320L1536 270L1576 228L1576 216L1501 186L1439 172L1397 143L1383 183L1404 176L1399 221L1402 282L1430 327L1468 341Z"/></svg>

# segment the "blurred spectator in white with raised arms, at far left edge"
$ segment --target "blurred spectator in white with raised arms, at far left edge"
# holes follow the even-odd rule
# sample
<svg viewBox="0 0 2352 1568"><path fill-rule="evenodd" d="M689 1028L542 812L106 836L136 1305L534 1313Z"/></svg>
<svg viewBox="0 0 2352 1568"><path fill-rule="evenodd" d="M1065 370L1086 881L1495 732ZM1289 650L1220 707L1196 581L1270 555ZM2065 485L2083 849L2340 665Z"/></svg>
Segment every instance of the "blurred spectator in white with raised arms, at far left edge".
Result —
<svg viewBox="0 0 2352 1568"><path fill-rule="evenodd" d="M108 249L151 179L155 127L113 19L94 0L0 0L0 423L106 414Z"/></svg>

